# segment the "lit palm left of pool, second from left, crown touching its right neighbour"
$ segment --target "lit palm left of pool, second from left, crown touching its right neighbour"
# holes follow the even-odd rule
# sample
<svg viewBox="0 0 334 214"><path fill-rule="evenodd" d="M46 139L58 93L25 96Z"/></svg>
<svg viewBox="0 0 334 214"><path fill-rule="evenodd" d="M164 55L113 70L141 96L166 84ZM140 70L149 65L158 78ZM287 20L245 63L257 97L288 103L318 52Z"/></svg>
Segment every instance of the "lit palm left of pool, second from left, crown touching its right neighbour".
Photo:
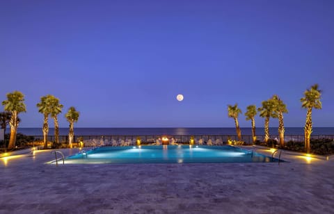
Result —
<svg viewBox="0 0 334 214"><path fill-rule="evenodd" d="M44 142L44 149L47 149L47 134L49 133L49 124L48 119L51 113L50 111L50 99L53 97L52 95L46 95L40 98L40 103L37 104L38 112L44 115L44 122L43 122L43 142Z"/></svg>

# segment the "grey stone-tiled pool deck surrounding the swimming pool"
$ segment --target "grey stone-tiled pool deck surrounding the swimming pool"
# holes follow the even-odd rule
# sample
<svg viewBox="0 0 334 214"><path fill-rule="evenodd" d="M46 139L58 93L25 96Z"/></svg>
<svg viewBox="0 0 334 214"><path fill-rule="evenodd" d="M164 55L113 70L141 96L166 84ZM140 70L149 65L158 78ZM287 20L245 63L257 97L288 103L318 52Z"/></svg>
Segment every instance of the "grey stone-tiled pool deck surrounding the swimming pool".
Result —
<svg viewBox="0 0 334 214"><path fill-rule="evenodd" d="M0 213L334 213L333 156L283 151L288 162L279 165L56 166L45 164L51 151L0 158Z"/></svg>

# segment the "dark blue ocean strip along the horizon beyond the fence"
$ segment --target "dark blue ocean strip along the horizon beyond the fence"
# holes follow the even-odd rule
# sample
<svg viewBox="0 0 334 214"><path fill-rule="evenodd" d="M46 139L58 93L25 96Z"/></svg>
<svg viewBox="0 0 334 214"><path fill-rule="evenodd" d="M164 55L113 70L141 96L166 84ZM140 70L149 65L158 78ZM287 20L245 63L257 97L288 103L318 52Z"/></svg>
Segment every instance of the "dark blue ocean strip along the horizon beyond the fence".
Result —
<svg viewBox="0 0 334 214"><path fill-rule="evenodd" d="M6 130L9 133L10 129ZM24 135L43 135L42 128L18 128ZM269 128L271 135L278 135L278 128ZM60 135L67 135L68 128L60 128ZM235 128L74 128L75 135L236 135ZM251 128L241 128L242 135L252 135ZM257 135L264 135L264 128L256 129ZM303 127L286 127L285 135L303 135ZM54 129L49 129L54 135ZM334 127L314 127L312 135L334 135Z"/></svg>

